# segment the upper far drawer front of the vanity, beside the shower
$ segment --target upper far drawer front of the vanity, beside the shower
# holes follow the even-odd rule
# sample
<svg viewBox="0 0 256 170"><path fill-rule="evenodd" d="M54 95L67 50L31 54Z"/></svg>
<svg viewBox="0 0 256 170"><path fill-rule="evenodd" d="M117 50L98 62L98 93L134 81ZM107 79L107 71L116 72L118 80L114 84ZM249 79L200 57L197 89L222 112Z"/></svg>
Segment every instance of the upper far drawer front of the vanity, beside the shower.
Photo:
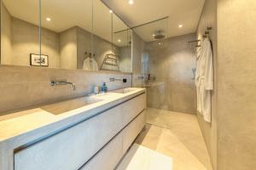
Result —
<svg viewBox="0 0 256 170"><path fill-rule="evenodd" d="M141 94L123 105L123 127L146 108L146 94Z"/></svg>

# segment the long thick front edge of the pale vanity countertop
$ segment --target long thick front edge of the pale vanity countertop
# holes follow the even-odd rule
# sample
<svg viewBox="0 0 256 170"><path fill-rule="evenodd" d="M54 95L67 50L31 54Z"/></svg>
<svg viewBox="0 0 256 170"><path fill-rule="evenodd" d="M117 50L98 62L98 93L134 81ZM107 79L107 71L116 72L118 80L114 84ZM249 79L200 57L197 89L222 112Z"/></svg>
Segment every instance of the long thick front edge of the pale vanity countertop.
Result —
<svg viewBox="0 0 256 170"><path fill-rule="evenodd" d="M145 93L146 90L144 88L140 88L136 92L129 95L122 96L118 99L109 100L108 103L97 105L96 107L87 109L86 111L79 111L77 114L72 114L71 116L61 117L60 119L55 120L55 122L46 123L40 127L35 127L12 137L0 139L0 148L3 149L3 146L6 145L9 147L8 150L15 150L21 145L26 145L32 141L47 138L48 136L54 135L55 133L60 133L69 127L73 127L80 122L90 119L91 117L100 115L104 111L108 111L109 109L117 105L121 105L129 99Z"/></svg>

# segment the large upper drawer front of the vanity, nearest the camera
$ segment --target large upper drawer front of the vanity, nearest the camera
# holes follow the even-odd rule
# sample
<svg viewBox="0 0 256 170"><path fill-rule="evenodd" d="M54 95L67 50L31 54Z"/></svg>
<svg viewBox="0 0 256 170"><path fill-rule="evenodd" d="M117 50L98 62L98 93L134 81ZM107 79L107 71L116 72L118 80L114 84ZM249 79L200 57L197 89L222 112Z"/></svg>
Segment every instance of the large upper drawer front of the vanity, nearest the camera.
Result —
<svg viewBox="0 0 256 170"><path fill-rule="evenodd" d="M121 106L15 153L15 170L76 170L122 128Z"/></svg>

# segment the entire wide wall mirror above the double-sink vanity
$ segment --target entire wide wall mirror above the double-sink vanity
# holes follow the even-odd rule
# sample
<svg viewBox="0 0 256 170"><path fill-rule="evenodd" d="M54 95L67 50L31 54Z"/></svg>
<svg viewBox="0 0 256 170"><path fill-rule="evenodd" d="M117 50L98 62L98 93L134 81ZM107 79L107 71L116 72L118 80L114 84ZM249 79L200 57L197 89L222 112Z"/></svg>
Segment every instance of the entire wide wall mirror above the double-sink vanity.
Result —
<svg viewBox="0 0 256 170"><path fill-rule="evenodd" d="M131 72L131 42L101 0L1 3L1 65Z"/></svg>

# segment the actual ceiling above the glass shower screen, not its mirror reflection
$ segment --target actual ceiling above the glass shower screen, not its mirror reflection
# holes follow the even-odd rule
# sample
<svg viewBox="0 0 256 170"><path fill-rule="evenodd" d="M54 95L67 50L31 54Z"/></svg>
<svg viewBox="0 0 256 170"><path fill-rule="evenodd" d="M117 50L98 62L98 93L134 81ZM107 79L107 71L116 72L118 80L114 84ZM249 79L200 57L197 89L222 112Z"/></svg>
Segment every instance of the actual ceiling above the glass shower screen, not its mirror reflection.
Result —
<svg viewBox="0 0 256 170"><path fill-rule="evenodd" d="M168 16L148 26L135 29L144 41L153 41L155 31L164 30L166 37L177 37L196 31L205 0L102 0L118 14L128 26L138 26ZM183 28L178 28L183 25Z"/></svg>

